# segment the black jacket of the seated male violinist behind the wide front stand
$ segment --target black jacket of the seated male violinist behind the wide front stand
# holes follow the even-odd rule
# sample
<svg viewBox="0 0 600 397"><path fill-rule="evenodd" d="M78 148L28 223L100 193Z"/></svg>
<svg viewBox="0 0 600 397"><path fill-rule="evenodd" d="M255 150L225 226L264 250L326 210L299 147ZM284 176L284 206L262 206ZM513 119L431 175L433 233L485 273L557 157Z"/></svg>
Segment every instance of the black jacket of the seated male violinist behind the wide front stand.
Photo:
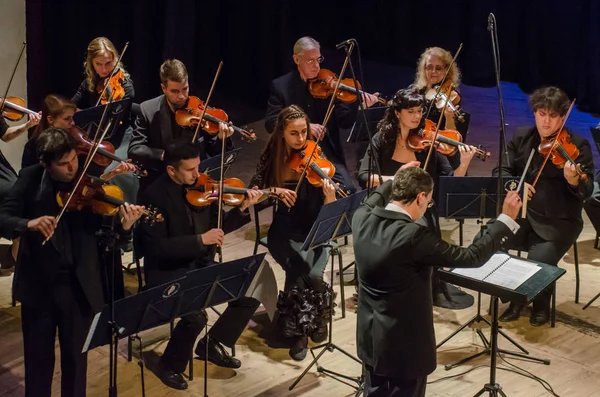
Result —
<svg viewBox="0 0 600 397"><path fill-rule="evenodd" d="M183 187L164 173L141 195L141 205L152 205L162 214L160 223L138 226L136 248L144 256L146 283L167 283L189 270L212 264L215 245L206 246L200 234L217 227L218 206L190 210ZM229 233L250 222L248 211L234 208L224 213L223 231Z"/></svg>

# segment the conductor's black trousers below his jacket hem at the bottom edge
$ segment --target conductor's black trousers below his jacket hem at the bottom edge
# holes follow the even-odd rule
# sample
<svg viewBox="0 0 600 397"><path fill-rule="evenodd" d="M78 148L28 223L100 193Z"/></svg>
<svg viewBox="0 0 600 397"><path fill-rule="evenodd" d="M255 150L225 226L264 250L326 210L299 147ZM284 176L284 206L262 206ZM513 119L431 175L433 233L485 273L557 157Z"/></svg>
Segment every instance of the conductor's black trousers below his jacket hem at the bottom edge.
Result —
<svg viewBox="0 0 600 397"><path fill-rule="evenodd" d="M397 379L380 376L365 366L365 397L425 397L427 377Z"/></svg>

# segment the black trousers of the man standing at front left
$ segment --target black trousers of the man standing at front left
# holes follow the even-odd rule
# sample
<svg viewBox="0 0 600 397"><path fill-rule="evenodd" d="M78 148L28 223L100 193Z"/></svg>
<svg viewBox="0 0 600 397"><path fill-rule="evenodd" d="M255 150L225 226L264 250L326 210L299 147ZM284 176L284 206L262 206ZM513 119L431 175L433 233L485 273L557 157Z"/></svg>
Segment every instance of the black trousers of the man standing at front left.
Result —
<svg viewBox="0 0 600 397"><path fill-rule="evenodd" d="M49 306L21 306L25 358L25 396L50 397L56 331L60 346L61 396L82 397L87 353L82 353L92 312L79 283L65 276L56 282Z"/></svg>

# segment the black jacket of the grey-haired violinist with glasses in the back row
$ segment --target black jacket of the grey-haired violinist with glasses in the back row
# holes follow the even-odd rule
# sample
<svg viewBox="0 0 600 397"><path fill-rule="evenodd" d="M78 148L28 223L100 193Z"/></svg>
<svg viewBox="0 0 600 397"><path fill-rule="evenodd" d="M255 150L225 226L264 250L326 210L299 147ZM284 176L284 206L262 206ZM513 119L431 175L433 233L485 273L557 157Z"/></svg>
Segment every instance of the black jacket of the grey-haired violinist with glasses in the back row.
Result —
<svg viewBox="0 0 600 397"><path fill-rule="evenodd" d="M322 124L330 99L314 98L308 91L308 84L302 80L298 70L293 70L271 82L265 127L269 133L275 129L279 112L290 105L300 106L308 115L311 123ZM321 146L325 155L334 163L344 163L344 150L340 137L340 128L351 128L356 119L358 103L336 102L334 117L327 124L327 134Z"/></svg>

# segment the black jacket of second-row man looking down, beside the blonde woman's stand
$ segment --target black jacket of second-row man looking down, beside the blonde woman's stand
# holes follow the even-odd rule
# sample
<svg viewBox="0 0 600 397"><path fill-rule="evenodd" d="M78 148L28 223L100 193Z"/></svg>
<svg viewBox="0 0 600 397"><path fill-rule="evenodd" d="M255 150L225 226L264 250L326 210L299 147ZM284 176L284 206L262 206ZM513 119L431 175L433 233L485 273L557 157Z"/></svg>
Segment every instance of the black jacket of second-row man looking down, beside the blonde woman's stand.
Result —
<svg viewBox="0 0 600 397"><path fill-rule="evenodd" d="M195 129L176 125L175 114L164 95L140 104L128 150L129 157L139 161L148 170L148 176L140 179L140 192L164 172L161 156L165 147L178 136L191 140L194 132ZM198 143L200 159L221 153L221 141L202 129L198 132ZM228 139L227 146L227 150L233 148L231 139Z"/></svg>

